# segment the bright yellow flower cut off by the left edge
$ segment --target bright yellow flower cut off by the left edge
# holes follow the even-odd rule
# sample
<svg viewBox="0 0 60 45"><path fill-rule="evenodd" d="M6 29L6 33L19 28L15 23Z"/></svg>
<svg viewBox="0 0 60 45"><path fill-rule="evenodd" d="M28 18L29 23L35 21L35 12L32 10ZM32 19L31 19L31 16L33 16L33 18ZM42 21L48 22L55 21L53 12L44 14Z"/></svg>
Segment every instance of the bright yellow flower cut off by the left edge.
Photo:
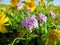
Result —
<svg viewBox="0 0 60 45"><path fill-rule="evenodd" d="M7 32L7 30L4 28L4 24L8 22L9 18L6 17L4 13L0 14L0 32L4 33Z"/></svg>

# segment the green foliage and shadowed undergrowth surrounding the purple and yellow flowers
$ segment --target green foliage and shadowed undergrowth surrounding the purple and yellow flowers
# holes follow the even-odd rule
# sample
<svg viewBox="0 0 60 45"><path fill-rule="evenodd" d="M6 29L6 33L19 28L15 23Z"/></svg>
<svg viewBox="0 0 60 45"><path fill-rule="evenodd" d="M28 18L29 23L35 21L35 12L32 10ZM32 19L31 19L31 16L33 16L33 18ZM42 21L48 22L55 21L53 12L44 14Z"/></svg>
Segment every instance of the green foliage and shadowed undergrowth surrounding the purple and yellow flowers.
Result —
<svg viewBox="0 0 60 45"><path fill-rule="evenodd" d="M52 1L53 0L47 0L47 3ZM12 8L10 9L10 5L0 6L0 11L4 12L9 18L9 22L7 22L9 26L4 25L8 32L0 33L1 45L45 45L45 38L48 36L48 34L54 29L60 30L60 15L55 13L57 11L57 7L54 5L48 6L48 4L46 7L44 7L40 4L36 6L36 9L33 12L27 11L25 7L23 7L21 10L15 10ZM4 10L2 6L6 10ZM56 15L55 19L53 19L49 13L51 11L50 6L53 8L52 11L54 11L54 14ZM38 17L40 13L47 17L46 23L39 21ZM22 27L22 21L25 18L28 18L30 15L35 15L38 21L38 28L33 28L32 32L30 32L29 28ZM53 22L53 20L58 22ZM59 40L57 40L56 43L56 45L60 45Z"/></svg>

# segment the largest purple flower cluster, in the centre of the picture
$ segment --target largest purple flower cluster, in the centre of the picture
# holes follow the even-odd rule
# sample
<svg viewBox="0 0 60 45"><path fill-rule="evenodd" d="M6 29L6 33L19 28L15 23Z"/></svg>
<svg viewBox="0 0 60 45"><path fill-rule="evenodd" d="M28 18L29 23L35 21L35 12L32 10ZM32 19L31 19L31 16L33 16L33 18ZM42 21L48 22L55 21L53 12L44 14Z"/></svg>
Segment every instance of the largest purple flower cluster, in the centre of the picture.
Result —
<svg viewBox="0 0 60 45"><path fill-rule="evenodd" d="M38 27L38 21L36 19L35 15L31 15L29 18L25 18L22 21L22 26L26 27L32 32L32 28L37 28Z"/></svg>

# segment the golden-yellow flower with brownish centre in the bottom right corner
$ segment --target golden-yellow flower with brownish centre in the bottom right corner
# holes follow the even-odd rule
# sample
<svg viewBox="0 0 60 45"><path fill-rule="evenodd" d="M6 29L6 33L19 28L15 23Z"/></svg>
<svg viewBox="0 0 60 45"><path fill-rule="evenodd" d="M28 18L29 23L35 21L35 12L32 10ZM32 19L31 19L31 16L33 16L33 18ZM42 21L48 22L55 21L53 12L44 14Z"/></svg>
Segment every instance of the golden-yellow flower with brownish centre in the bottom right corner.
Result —
<svg viewBox="0 0 60 45"><path fill-rule="evenodd" d="M60 40L60 31L58 31L57 29L52 30L52 32L49 33L46 39L47 41L45 45L48 45L48 42L50 42L50 45L55 45L55 41Z"/></svg>

